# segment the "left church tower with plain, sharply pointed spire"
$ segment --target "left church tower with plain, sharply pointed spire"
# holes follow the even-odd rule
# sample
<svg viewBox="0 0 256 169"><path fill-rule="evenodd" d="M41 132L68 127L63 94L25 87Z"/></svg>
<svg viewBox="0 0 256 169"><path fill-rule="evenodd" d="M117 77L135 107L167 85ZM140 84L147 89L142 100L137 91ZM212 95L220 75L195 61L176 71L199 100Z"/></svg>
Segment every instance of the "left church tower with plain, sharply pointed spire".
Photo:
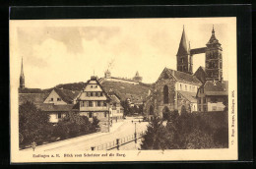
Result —
<svg viewBox="0 0 256 169"><path fill-rule="evenodd" d="M187 46L187 39L184 26L176 56L177 71L184 72L187 74L193 74L193 59L190 56L190 46L189 48Z"/></svg>

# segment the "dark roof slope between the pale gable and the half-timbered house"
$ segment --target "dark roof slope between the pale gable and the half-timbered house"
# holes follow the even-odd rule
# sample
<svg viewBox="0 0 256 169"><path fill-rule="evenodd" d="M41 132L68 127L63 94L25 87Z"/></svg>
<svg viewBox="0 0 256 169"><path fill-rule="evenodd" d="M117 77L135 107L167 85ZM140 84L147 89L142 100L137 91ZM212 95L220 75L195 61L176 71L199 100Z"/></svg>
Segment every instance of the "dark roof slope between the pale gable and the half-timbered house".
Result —
<svg viewBox="0 0 256 169"><path fill-rule="evenodd" d="M72 103L73 100L78 96L80 91L73 91L69 89L54 88L61 99L67 103Z"/></svg>

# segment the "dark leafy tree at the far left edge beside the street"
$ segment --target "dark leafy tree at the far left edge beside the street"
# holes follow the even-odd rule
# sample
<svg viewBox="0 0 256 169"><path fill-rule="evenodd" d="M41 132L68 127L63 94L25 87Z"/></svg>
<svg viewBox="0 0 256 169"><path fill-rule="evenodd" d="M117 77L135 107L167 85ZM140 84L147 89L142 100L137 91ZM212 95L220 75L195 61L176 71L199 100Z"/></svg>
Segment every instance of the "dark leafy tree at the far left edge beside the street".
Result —
<svg viewBox="0 0 256 169"><path fill-rule="evenodd" d="M20 145L30 144L32 141L45 141L51 134L49 116L41 112L32 102L25 102L19 106L19 138Z"/></svg>

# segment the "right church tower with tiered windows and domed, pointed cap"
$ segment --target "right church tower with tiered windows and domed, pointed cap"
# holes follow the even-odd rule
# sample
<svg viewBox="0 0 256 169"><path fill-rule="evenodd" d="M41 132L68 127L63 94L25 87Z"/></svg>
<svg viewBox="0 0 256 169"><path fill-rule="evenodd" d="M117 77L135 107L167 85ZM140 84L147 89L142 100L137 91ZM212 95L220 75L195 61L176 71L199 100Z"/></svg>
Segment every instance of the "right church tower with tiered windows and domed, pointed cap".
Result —
<svg viewBox="0 0 256 169"><path fill-rule="evenodd" d="M223 80L223 48L221 43L215 36L215 28L213 27L212 36L206 44L206 74L207 81Z"/></svg>

